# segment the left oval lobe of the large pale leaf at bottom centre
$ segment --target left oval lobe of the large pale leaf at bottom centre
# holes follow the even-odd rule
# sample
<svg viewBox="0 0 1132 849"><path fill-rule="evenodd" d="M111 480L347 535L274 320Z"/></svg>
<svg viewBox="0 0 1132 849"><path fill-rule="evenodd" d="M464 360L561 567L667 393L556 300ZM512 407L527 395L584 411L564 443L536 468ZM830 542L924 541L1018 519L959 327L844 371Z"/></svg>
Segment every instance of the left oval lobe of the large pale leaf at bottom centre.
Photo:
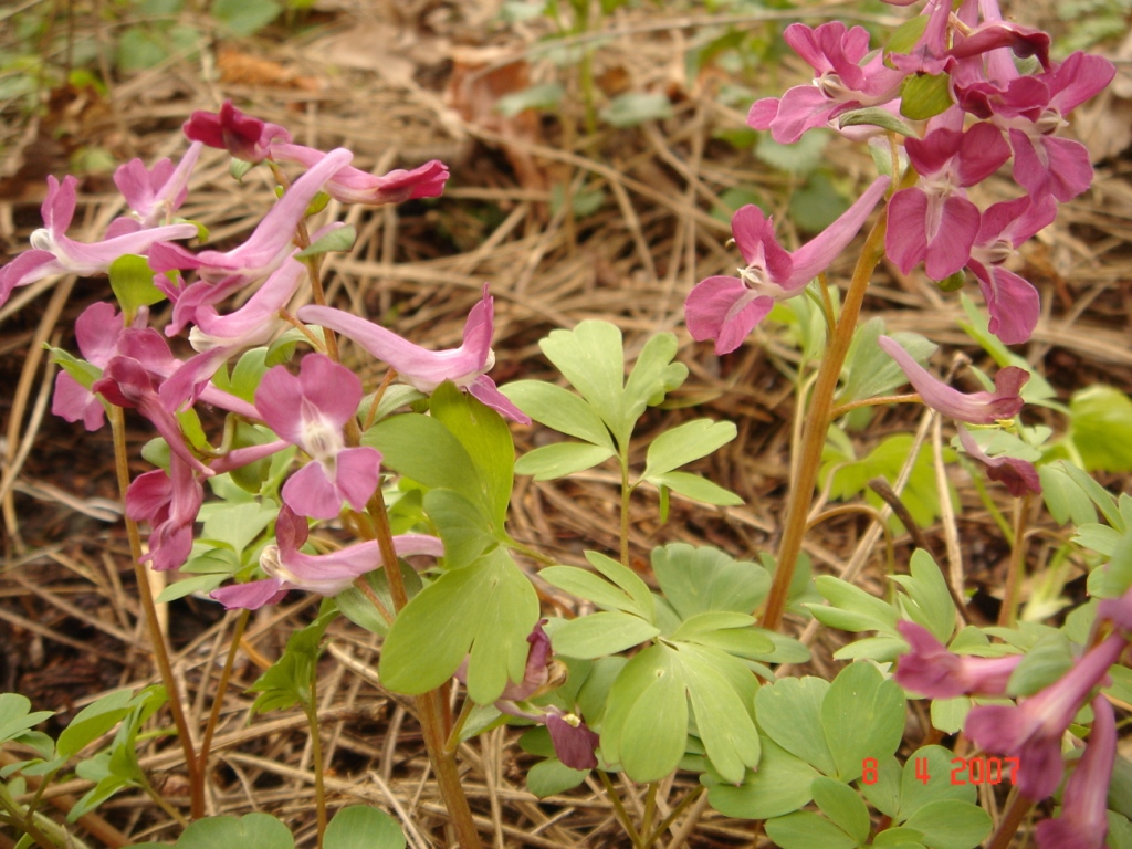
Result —
<svg viewBox="0 0 1132 849"><path fill-rule="evenodd" d="M653 645L634 657L609 693L601 727L602 756L634 781L659 781L687 747L688 700L679 660Z"/></svg>

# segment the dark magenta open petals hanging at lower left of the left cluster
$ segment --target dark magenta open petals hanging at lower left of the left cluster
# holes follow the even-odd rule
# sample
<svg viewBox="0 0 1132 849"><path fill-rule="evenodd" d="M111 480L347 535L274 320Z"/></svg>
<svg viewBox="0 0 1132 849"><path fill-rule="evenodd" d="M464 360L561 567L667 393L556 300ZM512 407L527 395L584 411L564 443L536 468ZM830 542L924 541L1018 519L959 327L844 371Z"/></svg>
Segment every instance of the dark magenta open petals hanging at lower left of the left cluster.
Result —
<svg viewBox="0 0 1132 849"><path fill-rule="evenodd" d="M139 474L126 490L126 515L149 523L149 554L157 572L179 568L192 550L192 524L204 503L204 488L192 466L180 454L169 458L169 473L161 469Z"/></svg>

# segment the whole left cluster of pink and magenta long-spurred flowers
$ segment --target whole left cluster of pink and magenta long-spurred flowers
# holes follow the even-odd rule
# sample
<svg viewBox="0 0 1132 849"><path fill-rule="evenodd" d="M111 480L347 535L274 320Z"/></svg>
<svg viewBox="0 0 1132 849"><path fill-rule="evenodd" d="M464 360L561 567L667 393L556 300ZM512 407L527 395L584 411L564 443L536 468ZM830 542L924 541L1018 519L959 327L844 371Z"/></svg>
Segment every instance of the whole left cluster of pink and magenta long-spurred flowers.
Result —
<svg viewBox="0 0 1132 849"><path fill-rule="evenodd" d="M277 544L260 557L268 577L217 590L214 597L228 606L254 608L277 601L292 588L335 594L380 566L372 542L321 556L300 550L309 520L336 518L344 508L365 512L379 484L381 455L358 444L358 428L352 424L362 398L361 381L318 352L302 359L298 374L282 365L266 370L251 402L218 388L213 378L226 361L271 342L288 326L283 311L307 280L301 250L342 226L331 224L306 235L305 221L320 192L342 203L369 205L436 197L448 171L434 161L411 171L368 174L350 164L349 151L292 144L286 129L246 115L231 103L218 113L194 113L185 135L191 144L180 163L162 160L146 168L135 160L118 169L114 181L130 214L114 221L98 242L67 237L77 180L68 177L60 183L49 178L44 228L33 234L32 250L0 268L0 303L17 286L52 275L108 273L121 257L143 257L154 274L155 299L164 295L172 305L171 319L160 328L164 333L148 326L149 310L144 306L130 315L110 303L87 308L76 326L84 359L65 363L68 368L55 383L54 412L94 430L104 423L108 404L137 410L169 446L168 464L138 475L126 495L129 517L151 525L146 559L156 569L175 569L189 558L205 480L294 446L307 462L282 486ZM187 246L198 228L173 217L205 146L249 163L268 161L284 183L263 221L229 250ZM293 180L284 177L283 168L290 164L303 169ZM242 306L226 308L237 295ZM421 392L451 380L504 415L529 421L486 374L495 362L492 300L486 289L469 316L464 344L453 351L428 351L326 307L308 307L300 317L355 338ZM196 353L180 359L166 337L186 332ZM187 436L191 431L182 426L197 404L266 427L274 438L231 445L225 440L225 448L215 451L199 435ZM394 542L402 555L443 554L439 540L431 537Z"/></svg>

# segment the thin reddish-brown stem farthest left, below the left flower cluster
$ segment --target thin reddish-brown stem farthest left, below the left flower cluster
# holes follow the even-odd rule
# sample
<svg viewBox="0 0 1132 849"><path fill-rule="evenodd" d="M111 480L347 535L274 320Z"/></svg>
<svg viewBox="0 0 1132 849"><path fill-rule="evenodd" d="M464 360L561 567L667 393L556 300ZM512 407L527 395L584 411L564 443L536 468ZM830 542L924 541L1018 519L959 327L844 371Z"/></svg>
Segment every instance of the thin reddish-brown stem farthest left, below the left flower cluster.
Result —
<svg viewBox="0 0 1132 849"><path fill-rule="evenodd" d="M114 469L118 472L118 489L122 494L122 504L125 505L126 490L130 486L130 470L127 465L126 453L126 417L122 414L122 409L113 404L109 405L108 415L114 438ZM192 799L190 812L192 818L196 820L205 815L205 777L192 748L192 738L189 737L189 723L181 705L181 693L177 686L177 679L173 677L173 666L169 661L165 636L161 633L161 626L157 624L157 606L154 603L153 591L149 589L148 567L142 563L144 557L142 535L138 533L137 523L125 515L125 512L123 518L126 521L126 535L130 543L130 559L134 561L134 576L138 585L138 600L142 602L142 610L145 615L157 671L165 686L165 692L169 694L169 710L173 714L173 724L177 726L177 738L185 753L185 766L189 772L189 790Z"/></svg>

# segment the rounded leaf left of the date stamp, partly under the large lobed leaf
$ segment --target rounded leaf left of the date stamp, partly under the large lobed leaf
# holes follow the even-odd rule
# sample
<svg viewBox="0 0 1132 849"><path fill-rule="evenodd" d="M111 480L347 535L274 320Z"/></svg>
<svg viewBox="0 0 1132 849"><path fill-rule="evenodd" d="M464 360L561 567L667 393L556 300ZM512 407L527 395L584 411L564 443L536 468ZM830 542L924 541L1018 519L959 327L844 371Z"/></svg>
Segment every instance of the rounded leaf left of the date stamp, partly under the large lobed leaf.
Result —
<svg viewBox="0 0 1132 849"><path fill-rule="evenodd" d="M813 798L814 767L773 740L762 738L761 746L758 771L748 771L740 786L723 782L711 769L703 778L711 806L724 816L766 820L797 811Z"/></svg>

